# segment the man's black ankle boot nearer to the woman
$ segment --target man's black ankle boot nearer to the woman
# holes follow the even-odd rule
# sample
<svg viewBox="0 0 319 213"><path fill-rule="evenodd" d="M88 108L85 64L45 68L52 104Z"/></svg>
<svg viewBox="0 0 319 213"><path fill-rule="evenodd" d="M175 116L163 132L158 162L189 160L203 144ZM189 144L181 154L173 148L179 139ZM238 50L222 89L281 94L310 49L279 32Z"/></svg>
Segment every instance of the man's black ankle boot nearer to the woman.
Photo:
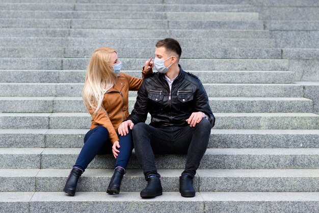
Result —
<svg viewBox="0 0 319 213"><path fill-rule="evenodd" d="M142 190L142 198L156 197L163 194L161 178L157 176L149 176L147 179L147 187Z"/></svg>

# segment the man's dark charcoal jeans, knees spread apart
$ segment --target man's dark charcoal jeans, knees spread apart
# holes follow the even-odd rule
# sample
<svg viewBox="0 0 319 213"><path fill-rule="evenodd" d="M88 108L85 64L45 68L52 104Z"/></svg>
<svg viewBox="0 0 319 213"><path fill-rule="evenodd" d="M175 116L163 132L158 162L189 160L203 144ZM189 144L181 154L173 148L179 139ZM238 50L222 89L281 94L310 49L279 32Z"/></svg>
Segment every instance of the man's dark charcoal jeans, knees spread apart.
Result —
<svg viewBox="0 0 319 213"><path fill-rule="evenodd" d="M156 170L154 154L187 154L182 175L194 177L207 149L210 129L207 119L202 119L195 127L155 128L145 123L136 124L132 130L135 153L145 177L160 177Z"/></svg>

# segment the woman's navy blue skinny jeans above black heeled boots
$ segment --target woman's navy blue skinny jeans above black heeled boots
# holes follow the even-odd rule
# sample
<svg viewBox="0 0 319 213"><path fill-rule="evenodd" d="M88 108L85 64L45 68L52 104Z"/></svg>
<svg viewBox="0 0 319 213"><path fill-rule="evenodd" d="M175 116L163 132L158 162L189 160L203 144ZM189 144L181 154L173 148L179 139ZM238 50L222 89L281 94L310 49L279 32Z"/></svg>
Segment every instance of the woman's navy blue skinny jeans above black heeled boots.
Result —
<svg viewBox="0 0 319 213"><path fill-rule="evenodd" d="M134 147L130 129L126 136L119 136L119 139L120 148L118 148L118 150L120 152L116 158L114 168L119 166L126 169ZM87 132L84 137L84 145L73 167L84 171L97 154L112 154L112 143L109 139L109 131L104 126L97 126Z"/></svg>

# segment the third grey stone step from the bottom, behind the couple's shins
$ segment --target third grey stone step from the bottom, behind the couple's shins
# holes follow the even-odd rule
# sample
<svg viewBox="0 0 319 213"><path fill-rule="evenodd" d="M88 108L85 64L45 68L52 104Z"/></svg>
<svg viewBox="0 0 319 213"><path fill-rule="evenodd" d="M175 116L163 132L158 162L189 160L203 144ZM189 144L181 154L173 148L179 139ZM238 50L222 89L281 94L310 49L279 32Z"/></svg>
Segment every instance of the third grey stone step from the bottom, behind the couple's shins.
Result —
<svg viewBox="0 0 319 213"><path fill-rule="evenodd" d="M0 148L1 169L70 169L81 148ZM111 151L111 150L110 150ZM319 148L208 148L200 169L319 169ZM157 169L184 169L186 155L155 155ZM168 163L169 162L169 163ZM111 154L98 155L89 169L113 169ZM140 169L133 151L128 169Z"/></svg>

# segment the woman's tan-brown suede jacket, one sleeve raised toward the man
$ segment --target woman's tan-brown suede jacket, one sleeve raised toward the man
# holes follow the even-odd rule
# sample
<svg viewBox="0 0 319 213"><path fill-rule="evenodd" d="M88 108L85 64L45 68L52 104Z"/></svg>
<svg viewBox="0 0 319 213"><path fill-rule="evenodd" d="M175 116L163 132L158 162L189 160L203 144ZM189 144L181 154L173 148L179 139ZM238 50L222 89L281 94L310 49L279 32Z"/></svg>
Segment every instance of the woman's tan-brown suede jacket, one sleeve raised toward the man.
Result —
<svg viewBox="0 0 319 213"><path fill-rule="evenodd" d="M152 69L151 69L152 70ZM128 91L139 90L143 83L144 76L151 74L152 71L142 72L142 78L132 77L123 72L119 73L116 83L113 88L109 89L103 98L103 107L95 116L94 110L89 109L92 116L90 129L97 126L104 126L108 129L110 134L110 141L112 144L118 141L117 129L119 125L129 116L128 113ZM106 112L105 112L106 111Z"/></svg>

